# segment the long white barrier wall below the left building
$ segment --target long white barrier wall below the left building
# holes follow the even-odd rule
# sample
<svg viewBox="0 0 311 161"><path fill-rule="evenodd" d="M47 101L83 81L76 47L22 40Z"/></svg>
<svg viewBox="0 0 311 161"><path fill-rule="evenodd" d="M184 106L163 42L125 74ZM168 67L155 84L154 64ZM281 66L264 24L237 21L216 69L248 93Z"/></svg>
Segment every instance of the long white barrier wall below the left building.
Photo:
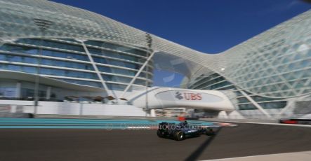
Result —
<svg viewBox="0 0 311 161"><path fill-rule="evenodd" d="M8 105L11 112L34 113L32 101L0 100L0 105ZM130 105L81 104L70 102L39 102L37 114L87 115L87 116L146 116L143 109Z"/></svg>

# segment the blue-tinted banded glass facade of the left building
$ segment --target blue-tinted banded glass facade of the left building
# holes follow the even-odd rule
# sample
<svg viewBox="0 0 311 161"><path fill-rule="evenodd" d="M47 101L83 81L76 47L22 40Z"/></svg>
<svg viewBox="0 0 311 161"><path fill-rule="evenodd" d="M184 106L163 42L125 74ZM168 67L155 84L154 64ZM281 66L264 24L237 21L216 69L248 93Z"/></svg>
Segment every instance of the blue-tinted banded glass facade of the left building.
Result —
<svg viewBox="0 0 311 161"><path fill-rule="evenodd" d="M88 58L81 42L73 39L20 38L0 47L0 69L21 71L68 83L102 87L94 69L110 90L124 90L131 82L150 52L141 48L103 41L85 41L93 58ZM152 85L152 61L133 85Z"/></svg>

